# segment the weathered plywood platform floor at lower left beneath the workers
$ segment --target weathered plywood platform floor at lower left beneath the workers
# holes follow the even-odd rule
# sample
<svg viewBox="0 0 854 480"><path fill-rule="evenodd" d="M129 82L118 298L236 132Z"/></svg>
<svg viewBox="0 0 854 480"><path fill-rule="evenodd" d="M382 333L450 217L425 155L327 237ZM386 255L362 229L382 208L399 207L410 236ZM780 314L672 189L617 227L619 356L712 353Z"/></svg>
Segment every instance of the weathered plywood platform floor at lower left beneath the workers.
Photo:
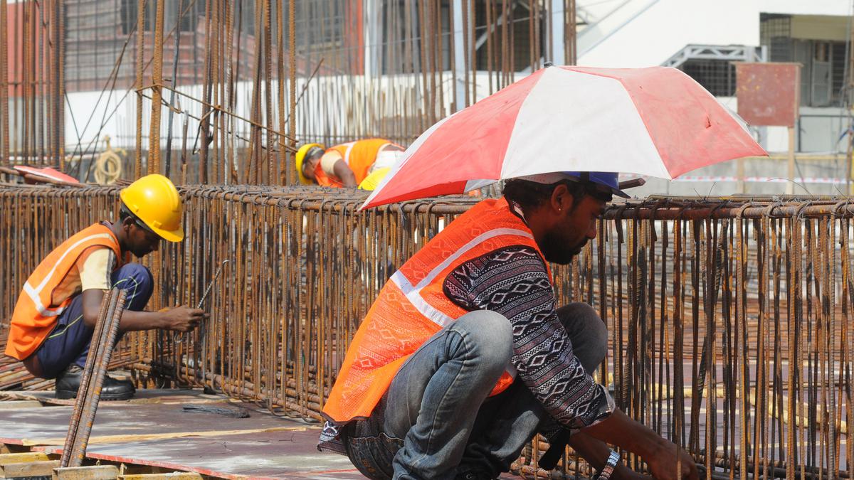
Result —
<svg viewBox="0 0 854 480"><path fill-rule="evenodd" d="M5 400L0 401L0 453L43 452L59 458L73 400L53 396L52 391L0 392ZM186 412L184 405L243 407L249 418ZM319 431L319 424L278 417L201 389L139 390L130 401L101 402L85 465L123 464L133 471L190 471L219 478L364 478L346 457L315 448Z"/></svg>

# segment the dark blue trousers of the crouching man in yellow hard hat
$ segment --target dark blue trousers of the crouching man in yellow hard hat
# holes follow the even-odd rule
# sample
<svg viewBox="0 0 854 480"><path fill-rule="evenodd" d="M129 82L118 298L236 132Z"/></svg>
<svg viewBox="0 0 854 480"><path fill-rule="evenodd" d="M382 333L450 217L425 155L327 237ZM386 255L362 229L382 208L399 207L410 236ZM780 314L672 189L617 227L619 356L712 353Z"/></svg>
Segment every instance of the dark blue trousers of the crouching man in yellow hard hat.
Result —
<svg viewBox="0 0 854 480"><path fill-rule="evenodd" d="M113 272L113 286L127 291L126 309L142 311L149 302L154 284L149 269L128 263ZM75 296L60 314L50 336L36 350L44 378L56 378L68 366L85 366L94 329L83 321L83 295ZM116 339L118 342L121 333Z"/></svg>

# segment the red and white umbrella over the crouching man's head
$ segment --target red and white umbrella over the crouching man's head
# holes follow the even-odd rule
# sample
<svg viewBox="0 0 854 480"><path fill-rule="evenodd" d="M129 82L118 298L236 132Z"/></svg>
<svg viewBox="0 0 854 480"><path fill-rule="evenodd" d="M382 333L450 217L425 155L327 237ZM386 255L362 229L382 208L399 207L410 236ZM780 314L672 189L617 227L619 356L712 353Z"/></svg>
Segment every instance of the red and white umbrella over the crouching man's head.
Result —
<svg viewBox="0 0 854 480"><path fill-rule="evenodd" d="M431 126L362 208L536 173L674 179L749 155L768 154L676 68L546 67Z"/></svg>

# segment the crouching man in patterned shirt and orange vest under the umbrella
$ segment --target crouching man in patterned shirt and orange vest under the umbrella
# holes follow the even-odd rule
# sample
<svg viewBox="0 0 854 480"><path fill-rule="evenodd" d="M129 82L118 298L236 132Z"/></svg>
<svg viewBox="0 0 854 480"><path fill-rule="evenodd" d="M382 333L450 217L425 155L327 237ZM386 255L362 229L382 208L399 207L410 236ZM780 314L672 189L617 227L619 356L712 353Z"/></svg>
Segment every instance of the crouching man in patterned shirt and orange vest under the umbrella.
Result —
<svg viewBox="0 0 854 480"><path fill-rule="evenodd" d="M649 478L609 443L656 478L697 478L686 452L620 412L591 377L608 348L594 308L557 305L549 262L581 253L612 195L627 196L617 173L512 179L502 198L433 237L389 278L350 343L319 448L372 479L486 480L541 433L555 462L569 443L603 480Z"/></svg>

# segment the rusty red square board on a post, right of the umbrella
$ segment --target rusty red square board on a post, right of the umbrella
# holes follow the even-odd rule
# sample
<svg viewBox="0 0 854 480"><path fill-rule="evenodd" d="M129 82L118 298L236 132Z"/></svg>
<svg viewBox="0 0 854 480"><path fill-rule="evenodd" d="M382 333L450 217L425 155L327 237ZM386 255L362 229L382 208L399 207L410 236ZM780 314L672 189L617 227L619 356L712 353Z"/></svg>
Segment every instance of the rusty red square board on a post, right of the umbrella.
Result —
<svg viewBox="0 0 854 480"><path fill-rule="evenodd" d="M800 63L736 63L739 115L754 126L795 126Z"/></svg>

